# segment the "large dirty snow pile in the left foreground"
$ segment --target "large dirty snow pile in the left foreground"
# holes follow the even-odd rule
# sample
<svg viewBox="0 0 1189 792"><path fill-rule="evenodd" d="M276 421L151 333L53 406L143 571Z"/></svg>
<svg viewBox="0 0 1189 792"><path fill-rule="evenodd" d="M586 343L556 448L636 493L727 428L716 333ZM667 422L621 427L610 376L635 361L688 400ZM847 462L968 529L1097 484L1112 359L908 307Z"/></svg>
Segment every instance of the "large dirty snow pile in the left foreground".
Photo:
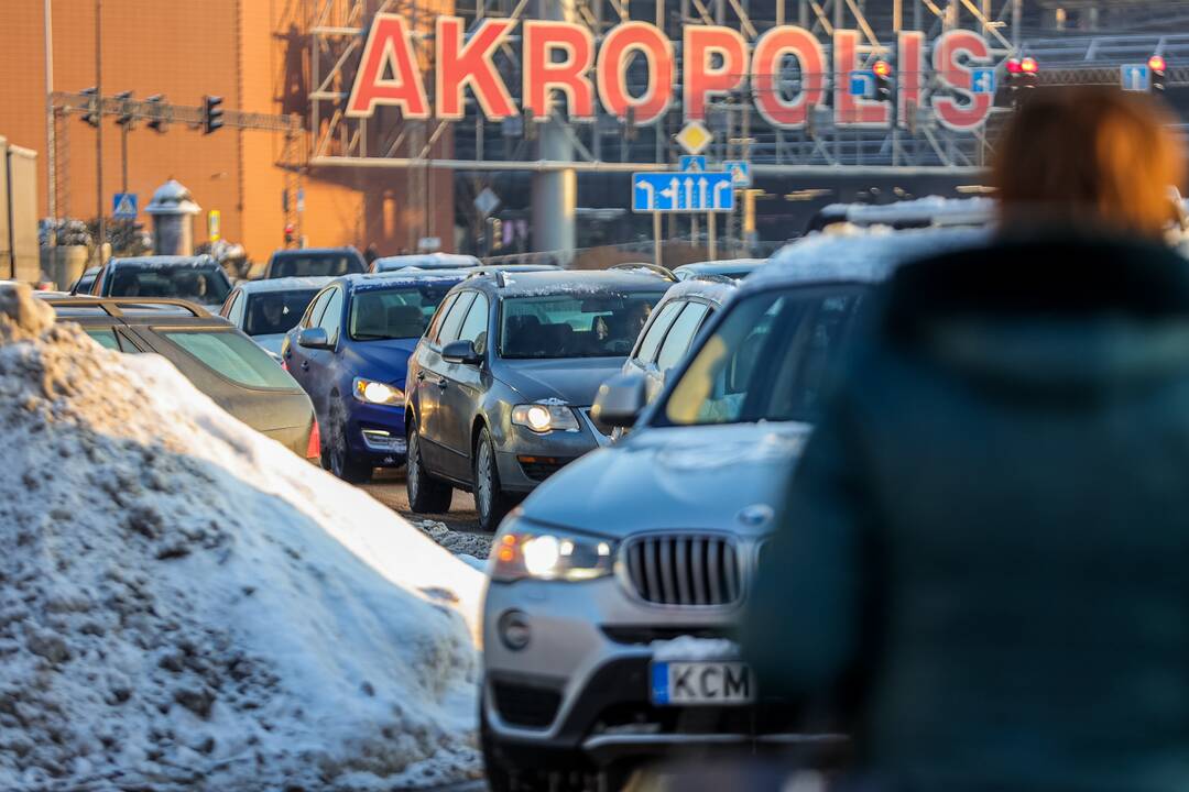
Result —
<svg viewBox="0 0 1189 792"><path fill-rule="evenodd" d="M478 772L483 576L0 287L0 788Z"/></svg>

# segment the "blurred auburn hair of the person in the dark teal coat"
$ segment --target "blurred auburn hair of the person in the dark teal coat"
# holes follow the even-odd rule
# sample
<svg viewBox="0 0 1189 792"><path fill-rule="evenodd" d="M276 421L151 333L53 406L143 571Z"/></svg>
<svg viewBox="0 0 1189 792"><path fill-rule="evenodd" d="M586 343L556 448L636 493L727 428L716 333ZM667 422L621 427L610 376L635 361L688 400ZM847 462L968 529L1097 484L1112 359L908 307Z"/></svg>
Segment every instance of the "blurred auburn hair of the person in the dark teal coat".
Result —
<svg viewBox="0 0 1189 792"><path fill-rule="evenodd" d="M1184 176L1172 116L1118 88L1028 91L995 151L1004 232L1037 224L1156 236Z"/></svg>

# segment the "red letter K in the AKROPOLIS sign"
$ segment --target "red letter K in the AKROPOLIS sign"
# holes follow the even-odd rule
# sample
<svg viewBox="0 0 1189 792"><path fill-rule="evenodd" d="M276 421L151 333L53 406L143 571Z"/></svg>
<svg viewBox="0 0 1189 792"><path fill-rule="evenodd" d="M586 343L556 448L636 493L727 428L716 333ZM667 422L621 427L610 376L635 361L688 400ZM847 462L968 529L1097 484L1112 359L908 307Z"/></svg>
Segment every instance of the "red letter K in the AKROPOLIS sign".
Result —
<svg viewBox="0 0 1189 792"><path fill-rule="evenodd" d="M463 44L463 20L459 17L438 18L438 77L435 95L438 118L463 118L463 89L467 85L491 121L516 115L508 85L496 71L492 56L508 32L516 26L510 19L487 19Z"/></svg>

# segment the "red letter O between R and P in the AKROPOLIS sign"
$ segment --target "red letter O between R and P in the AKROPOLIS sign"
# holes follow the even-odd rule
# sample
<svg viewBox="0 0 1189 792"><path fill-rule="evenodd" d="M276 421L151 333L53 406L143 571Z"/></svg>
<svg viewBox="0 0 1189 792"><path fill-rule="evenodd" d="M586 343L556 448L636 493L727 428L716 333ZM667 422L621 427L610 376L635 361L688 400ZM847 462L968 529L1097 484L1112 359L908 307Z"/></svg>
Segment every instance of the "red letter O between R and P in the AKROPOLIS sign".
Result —
<svg viewBox="0 0 1189 792"><path fill-rule="evenodd" d="M628 93L628 64L635 52L648 61L648 90L640 97ZM635 108L636 123L652 123L673 99L673 43L648 23L616 25L603 39L596 71L608 113L624 119L628 108Z"/></svg>

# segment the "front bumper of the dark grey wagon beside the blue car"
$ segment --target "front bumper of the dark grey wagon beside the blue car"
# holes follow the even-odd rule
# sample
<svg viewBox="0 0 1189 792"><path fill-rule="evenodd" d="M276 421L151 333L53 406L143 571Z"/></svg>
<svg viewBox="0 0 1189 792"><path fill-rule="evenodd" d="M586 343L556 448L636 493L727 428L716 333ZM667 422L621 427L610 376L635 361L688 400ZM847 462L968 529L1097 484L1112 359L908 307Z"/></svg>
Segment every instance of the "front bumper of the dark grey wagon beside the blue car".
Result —
<svg viewBox="0 0 1189 792"><path fill-rule="evenodd" d="M586 410L578 410L578 431L540 435L527 426L511 426L496 449L503 489L528 493L578 457L604 445L611 437L600 432Z"/></svg>

